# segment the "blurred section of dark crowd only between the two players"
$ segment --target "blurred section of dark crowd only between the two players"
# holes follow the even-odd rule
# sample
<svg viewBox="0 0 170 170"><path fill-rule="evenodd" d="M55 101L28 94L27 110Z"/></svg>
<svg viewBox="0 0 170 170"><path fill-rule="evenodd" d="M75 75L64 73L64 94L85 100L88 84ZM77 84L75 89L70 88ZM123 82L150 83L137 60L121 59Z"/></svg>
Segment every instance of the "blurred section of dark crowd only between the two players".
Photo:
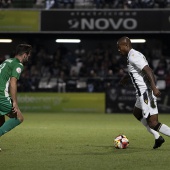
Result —
<svg viewBox="0 0 170 170"><path fill-rule="evenodd" d="M22 74L20 85L23 91L37 90L42 78L56 77L59 83L68 85L67 91L75 91L77 80L86 81L88 91L104 91L106 80L109 86L115 83L117 76L124 74L123 61L114 55L110 45L99 44L87 51L81 45L72 51L60 45L49 54L44 46L34 46L30 63ZM75 82L75 83L74 83Z"/></svg>

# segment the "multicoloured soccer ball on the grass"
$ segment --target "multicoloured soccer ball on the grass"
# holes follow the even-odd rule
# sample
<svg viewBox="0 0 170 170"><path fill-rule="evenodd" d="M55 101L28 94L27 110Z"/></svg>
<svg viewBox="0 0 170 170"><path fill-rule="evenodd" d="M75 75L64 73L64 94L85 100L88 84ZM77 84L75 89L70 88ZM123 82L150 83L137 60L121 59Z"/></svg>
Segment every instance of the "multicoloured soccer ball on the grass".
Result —
<svg viewBox="0 0 170 170"><path fill-rule="evenodd" d="M126 149L129 146L129 140L125 135L118 135L114 139L114 147L117 149Z"/></svg>

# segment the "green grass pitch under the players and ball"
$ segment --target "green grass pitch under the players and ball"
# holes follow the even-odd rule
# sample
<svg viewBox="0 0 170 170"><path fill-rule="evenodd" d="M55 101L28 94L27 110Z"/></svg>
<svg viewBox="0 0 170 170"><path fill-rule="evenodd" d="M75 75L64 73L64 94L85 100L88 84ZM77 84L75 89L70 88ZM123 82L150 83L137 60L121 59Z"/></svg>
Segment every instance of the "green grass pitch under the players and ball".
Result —
<svg viewBox="0 0 170 170"><path fill-rule="evenodd" d="M4 170L169 170L170 139L153 150L154 138L131 114L32 114L0 138ZM170 125L170 115L160 114ZM125 134L129 148L115 149Z"/></svg>

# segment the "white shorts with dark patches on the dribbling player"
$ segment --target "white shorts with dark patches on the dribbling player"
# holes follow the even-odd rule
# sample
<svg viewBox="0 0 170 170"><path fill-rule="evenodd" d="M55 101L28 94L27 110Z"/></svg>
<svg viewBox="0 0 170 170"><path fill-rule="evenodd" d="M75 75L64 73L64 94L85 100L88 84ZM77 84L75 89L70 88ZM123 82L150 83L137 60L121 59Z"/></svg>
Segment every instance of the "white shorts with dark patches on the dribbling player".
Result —
<svg viewBox="0 0 170 170"><path fill-rule="evenodd" d="M142 115L147 118L149 115L158 114L156 97L152 91L145 91L141 96L137 96L135 106L142 110Z"/></svg>

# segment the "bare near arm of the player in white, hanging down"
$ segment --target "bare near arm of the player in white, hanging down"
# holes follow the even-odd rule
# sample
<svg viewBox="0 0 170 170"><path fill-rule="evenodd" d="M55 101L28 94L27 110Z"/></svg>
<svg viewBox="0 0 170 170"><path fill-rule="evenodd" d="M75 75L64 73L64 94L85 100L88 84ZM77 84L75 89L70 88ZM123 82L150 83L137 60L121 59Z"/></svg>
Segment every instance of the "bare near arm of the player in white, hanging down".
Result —
<svg viewBox="0 0 170 170"><path fill-rule="evenodd" d="M150 82L150 85L151 85L151 88L153 90L153 94L156 96L156 97L159 97L161 95L161 92L159 91L159 89L156 87L156 84L155 84L155 76L153 74L153 70L148 66L144 66L144 68L142 69L142 71L146 74L149 82Z"/></svg>

